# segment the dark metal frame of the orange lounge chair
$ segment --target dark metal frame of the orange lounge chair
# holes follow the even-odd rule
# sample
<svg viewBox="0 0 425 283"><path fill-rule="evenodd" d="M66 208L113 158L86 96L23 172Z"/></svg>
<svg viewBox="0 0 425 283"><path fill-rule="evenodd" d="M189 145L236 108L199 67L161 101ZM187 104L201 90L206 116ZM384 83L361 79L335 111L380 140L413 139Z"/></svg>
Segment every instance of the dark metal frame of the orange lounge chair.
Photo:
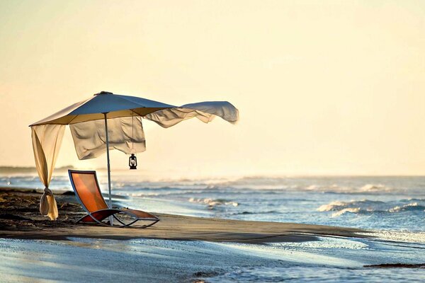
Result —
<svg viewBox="0 0 425 283"><path fill-rule="evenodd" d="M125 211L125 209L118 209L118 208L98 209L98 210L96 210L94 212L90 212L89 209L87 209L86 206L84 205L84 202L82 202L81 201L81 198L79 197L78 190L75 187L74 180L72 179L72 173L93 174L94 175L94 180L96 181L96 186L97 186L96 188L97 188L98 192L101 194L102 199L103 199L103 202L105 202L105 199L103 198L103 195L102 195L102 192L101 192L101 187L99 187L99 183L98 183L96 171L68 170L69 180L71 181L72 189L75 192L75 196L77 197L77 200L81 204L81 207L83 207L83 209L87 213L86 215L84 215L80 219L78 219L76 223L79 223L80 221L82 221L87 216L90 216L91 219L93 219L94 221L96 221L98 224L101 224L103 226L108 226L108 227L117 227L117 228L128 227L128 226L130 226L132 224L135 224L135 222L140 221L140 220L142 220L142 221L152 221L151 224L147 224L147 225L144 225L144 226L137 227L137 228L147 228L149 226L152 226L152 225L156 224L159 221L159 218L157 216L154 216L154 215L152 215L152 216L154 216L154 218L143 218L143 217L139 217L136 214L133 214L131 212ZM105 202L105 204L106 204L106 202ZM108 204L106 204L106 207L108 207ZM133 210L136 210L136 209L133 209ZM99 219L97 219L93 215L96 212L103 212L103 211L112 212L111 214L105 216L103 219L106 219L108 216L113 216L113 218L116 219L118 222L120 222L120 224L122 224L122 225L120 225L120 226L113 226L113 225L110 225L110 224L109 225L108 224L105 224L105 223L102 222L103 219L100 219L99 220ZM118 213L127 214L128 216L131 216L131 217L135 218L135 220L132 221L132 222L130 222L129 224L125 224L123 221L121 221L120 219L118 219L117 216L115 216L115 214L118 214ZM82 222L84 222L84 221L82 221Z"/></svg>

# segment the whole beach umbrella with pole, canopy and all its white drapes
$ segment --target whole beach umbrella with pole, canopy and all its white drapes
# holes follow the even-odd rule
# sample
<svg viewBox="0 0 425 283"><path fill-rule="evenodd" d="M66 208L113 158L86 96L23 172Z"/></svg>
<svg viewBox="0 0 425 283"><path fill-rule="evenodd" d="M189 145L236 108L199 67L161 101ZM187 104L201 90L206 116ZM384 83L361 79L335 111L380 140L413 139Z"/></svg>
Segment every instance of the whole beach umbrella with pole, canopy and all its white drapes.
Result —
<svg viewBox="0 0 425 283"><path fill-rule="evenodd" d="M58 216L55 197L48 187L66 125L71 129L79 159L96 158L106 152L111 207L109 151L118 149L125 154L145 151L142 118L154 121L162 127L171 127L192 117L208 123L215 116L235 123L239 120L239 111L227 101L205 101L176 106L102 91L33 123L30 127L35 166L40 180L45 185L40 200L40 213L50 216L50 219L56 219ZM132 162L131 158L129 162ZM134 164L131 165L134 168Z"/></svg>

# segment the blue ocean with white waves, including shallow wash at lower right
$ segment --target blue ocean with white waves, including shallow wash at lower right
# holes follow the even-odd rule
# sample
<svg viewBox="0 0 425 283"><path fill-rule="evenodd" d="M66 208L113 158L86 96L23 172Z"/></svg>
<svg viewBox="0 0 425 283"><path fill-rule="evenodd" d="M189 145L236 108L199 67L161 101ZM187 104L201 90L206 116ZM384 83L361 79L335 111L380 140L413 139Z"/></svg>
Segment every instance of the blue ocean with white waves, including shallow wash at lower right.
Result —
<svg viewBox="0 0 425 283"><path fill-rule="evenodd" d="M98 178L102 191L107 194L106 176L102 173ZM113 200L123 207L189 216L347 226L374 232L373 239L321 237L313 242L265 246L193 243L190 249L193 245L196 248L212 245L227 249L229 257L242 256L236 255L239 253L249 255L245 263L228 263L220 267L220 272L205 275L208 282L425 280L424 268L363 267L425 264L425 177L256 176L146 180L118 172L113 173L112 179ZM2 175L0 186L43 188L36 175L16 173ZM55 175L50 187L72 190L66 173ZM146 241L129 241L128 245L144 245ZM166 241L167 245L177 245L170 242ZM261 258L261 263L252 263L256 262L253 256ZM276 260L280 262L276 264Z"/></svg>

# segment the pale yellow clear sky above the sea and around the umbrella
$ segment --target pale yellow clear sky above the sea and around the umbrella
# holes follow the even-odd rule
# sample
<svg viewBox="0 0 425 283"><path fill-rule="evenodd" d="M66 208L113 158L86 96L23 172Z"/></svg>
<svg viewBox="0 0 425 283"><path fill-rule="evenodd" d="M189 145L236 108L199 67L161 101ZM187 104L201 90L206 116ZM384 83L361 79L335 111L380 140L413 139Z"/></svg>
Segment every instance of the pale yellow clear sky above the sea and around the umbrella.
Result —
<svg viewBox="0 0 425 283"><path fill-rule="evenodd" d="M423 175L424 50L424 1L0 0L0 166L34 166L28 125L111 91L240 112L144 120L137 173ZM78 161L66 129L69 164L106 156Z"/></svg>

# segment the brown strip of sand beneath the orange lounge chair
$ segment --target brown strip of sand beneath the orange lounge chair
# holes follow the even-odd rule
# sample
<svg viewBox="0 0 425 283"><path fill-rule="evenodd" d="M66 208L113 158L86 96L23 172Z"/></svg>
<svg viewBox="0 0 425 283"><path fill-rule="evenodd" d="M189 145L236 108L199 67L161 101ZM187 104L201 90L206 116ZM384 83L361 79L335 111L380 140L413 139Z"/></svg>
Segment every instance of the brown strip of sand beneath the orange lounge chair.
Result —
<svg viewBox="0 0 425 283"><path fill-rule="evenodd" d="M147 229L103 227L75 224L85 213L73 192L56 192L60 216L50 221L38 212L42 191L0 188L0 238L66 240L99 238L129 240L157 238L164 240L211 241L235 243L273 243L314 241L317 236L364 238L367 231L335 226L239 221L202 217L155 214L161 219ZM138 207L134 207L138 209Z"/></svg>

